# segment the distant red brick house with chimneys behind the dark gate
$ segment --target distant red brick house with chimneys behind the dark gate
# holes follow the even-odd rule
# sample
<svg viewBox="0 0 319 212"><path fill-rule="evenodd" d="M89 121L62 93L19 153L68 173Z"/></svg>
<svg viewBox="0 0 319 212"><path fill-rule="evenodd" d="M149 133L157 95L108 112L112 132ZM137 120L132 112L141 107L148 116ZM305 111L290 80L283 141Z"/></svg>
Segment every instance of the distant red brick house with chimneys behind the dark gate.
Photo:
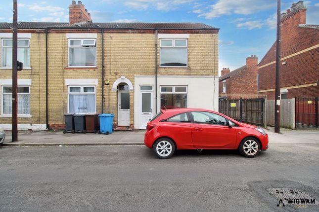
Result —
<svg viewBox="0 0 319 212"><path fill-rule="evenodd" d="M256 55L247 57L246 65L236 70L230 71L229 68L223 68L219 77L220 98L231 99L245 97L245 95L257 95L257 76L258 58Z"/></svg>

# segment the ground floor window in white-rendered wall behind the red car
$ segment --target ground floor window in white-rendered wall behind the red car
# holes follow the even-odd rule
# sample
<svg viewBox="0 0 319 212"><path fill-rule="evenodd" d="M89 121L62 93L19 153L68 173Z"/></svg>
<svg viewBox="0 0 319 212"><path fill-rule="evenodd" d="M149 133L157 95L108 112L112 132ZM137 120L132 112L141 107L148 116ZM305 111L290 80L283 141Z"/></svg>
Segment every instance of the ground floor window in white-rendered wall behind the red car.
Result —
<svg viewBox="0 0 319 212"><path fill-rule="evenodd" d="M160 86L161 109L187 107L187 86Z"/></svg>

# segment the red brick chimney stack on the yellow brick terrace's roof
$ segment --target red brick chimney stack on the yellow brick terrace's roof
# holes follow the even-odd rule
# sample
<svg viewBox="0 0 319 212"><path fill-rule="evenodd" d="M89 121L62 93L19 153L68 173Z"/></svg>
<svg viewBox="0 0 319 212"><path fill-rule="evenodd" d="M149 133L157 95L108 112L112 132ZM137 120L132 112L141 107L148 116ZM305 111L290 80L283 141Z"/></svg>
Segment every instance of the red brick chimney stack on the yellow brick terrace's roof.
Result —
<svg viewBox="0 0 319 212"><path fill-rule="evenodd" d="M80 0L78 3L73 0L72 4L69 5L69 20L70 24L92 22L91 14Z"/></svg>

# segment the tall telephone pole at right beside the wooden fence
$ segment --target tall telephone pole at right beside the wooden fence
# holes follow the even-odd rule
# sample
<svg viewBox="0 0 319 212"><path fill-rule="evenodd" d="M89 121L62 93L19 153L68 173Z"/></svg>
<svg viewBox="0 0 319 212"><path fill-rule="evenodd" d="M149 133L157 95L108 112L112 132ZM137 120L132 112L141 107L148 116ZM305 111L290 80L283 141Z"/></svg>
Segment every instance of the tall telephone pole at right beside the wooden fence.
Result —
<svg viewBox="0 0 319 212"><path fill-rule="evenodd" d="M277 0L277 39L276 39L276 80L274 97L274 132L280 133L280 7L281 0Z"/></svg>

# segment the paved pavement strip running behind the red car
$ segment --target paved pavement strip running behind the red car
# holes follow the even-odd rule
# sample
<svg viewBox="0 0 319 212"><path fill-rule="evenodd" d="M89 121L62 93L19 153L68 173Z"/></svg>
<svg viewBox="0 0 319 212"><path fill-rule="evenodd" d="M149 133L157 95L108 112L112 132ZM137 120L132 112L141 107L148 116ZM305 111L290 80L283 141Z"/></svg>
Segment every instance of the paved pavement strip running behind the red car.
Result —
<svg viewBox="0 0 319 212"><path fill-rule="evenodd" d="M7 132L7 145L142 145L144 130L131 132L113 132L103 134L63 134L62 131L19 132L18 140L11 141L11 132ZM270 144L319 144L319 130L287 130L281 129L281 134L267 130Z"/></svg>

